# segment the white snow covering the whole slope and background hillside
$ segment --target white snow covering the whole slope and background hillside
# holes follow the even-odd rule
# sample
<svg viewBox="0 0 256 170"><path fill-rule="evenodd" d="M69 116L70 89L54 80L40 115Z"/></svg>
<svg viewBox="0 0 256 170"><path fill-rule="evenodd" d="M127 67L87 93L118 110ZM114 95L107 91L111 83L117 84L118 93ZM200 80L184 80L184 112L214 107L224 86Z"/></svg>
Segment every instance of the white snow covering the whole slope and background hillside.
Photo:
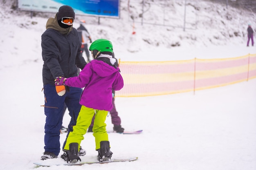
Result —
<svg viewBox="0 0 256 170"><path fill-rule="evenodd" d="M54 17L54 14L39 13L31 18L28 12L11 9L13 2L1 0L0 4L0 169L29 170L37 168L33 163L40 161L44 152L45 115L44 108L40 107L44 104L40 36L45 31L48 17ZM183 0L171 2L174 4L172 10L178 9L175 11L177 15L184 12ZM127 0L121 0L120 19L101 18L98 24L98 18L77 16L74 27L79 26L79 19L86 20L85 26L92 40L107 38L112 41L115 56L121 61L213 59L256 53L256 45L252 47L250 43L249 47L246 46L248 23L254 30L256 28L255 13L231 7L227 10L221 4L199 3L199 0L187 2L200 7L198 14L201 19L197 29L183 31L182 28L136 22L136 33L132 34ZM232 20L223 17L227 13ZM154 15L157 16L157 10ZM220 20L226 24L221 24ZM239 36L229 36L234 32L238 32ZM214 39L214 35L218 38ZM179 42L180 46L171 46L175 42ZM112 158L139 157L137 161L37 169L255 170L255 100L256 79L196 91L195 94L117 97L115 104L121 125L127 131L143 132L139 135L110 133ZM64 126L67 126L69 119L66 113ZM107 130L112 130L111 117L106 123ZM61 134L61 144L65 137L66 133ZM87 151L81 157L82 161L96 160L92 133L85 134L81 146ZM60 155L57 159L46 161L64 162Z"/></svg>

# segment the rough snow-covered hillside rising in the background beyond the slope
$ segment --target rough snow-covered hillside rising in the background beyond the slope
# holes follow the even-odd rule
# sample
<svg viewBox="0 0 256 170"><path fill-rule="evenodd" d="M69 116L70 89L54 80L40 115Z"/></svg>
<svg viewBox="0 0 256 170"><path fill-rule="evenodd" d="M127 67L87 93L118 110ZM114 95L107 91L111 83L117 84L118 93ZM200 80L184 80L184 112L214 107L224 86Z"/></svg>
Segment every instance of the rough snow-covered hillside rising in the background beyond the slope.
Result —
<svg viewBox="0 0 256 170"><path fill-rule="evenodd" d="M54 14L34 13L14 10L16 0L2 3L4 21L9 23L9 13L26 17L26 20L13 20L13 24L24 29L45 26L44 19ZM121 18L110 19L88 16L77 16L76 25L80 19L87 22L87 27L94 40L106 37L114 44L121 44L127 51L161 46L175 48L177 46L209 46L245 43L247 40L248 23L256 23L256 13L248 10L226 8L225 4L186 0L186 31L184 31L184 0L145 0L143 25L141 25L142 4L137 0L121 0ZM129 3L128 3L129 2ZM38 21L37 18L40 18ZM135 21L136 35L132 35L132 19ZM145 24L150 23L150 24ZM155 25L153 25L155 24ZM166 25L166 26L162 26ZM256 26L255 26L256 27ZM108 29L111 28L111 31ZM254 28L254 27L253 27ZM136 46L133 45L137 42Z"/></svg>

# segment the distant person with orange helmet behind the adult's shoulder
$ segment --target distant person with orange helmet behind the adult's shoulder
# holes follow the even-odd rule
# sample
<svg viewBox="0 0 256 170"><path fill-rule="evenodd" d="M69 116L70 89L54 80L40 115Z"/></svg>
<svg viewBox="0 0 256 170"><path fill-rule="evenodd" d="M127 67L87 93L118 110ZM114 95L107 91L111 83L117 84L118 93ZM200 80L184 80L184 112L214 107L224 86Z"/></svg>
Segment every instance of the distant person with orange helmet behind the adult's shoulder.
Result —
<svg viewBox="0 0 256 170"><path fill-rule="evenodd" d="M92 39L91 36L89 34L89 32L87 31L87 29L85 28L85 26L83 26L83 24L85 24L85 20L80 20L80 26L77 28L77 31L79 33L79 39L82 43L81 45L81 50L83 53L83 51L85 51L86 57L88 62L90 62L90 54L88 51L88 41L90 41L90 43L92 43Z"/></svg>

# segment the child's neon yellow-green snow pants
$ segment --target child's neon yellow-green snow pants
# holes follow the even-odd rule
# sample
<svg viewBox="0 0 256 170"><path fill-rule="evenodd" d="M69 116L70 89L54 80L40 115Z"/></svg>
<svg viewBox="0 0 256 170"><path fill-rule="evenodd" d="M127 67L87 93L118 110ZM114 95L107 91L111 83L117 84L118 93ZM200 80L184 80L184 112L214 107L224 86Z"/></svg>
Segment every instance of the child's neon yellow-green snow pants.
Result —
<svg viewBox="0 0 256 170"><path fill-rule="evenodd" d="M97 150L101 148L101 141L108 141L108 133L105 124L108 111L88 108L82 105L76 120L76 125L73 126L73 131L70 132L67 137L67 142L65 144L64 150L69 150L71 143L78 143L78 149L80 148L81 141L84 139L83 135L85 135L88 127L92 123L92 117L95 113L96 115L92 128L93 136L95 137L95 149Z"/></svg>

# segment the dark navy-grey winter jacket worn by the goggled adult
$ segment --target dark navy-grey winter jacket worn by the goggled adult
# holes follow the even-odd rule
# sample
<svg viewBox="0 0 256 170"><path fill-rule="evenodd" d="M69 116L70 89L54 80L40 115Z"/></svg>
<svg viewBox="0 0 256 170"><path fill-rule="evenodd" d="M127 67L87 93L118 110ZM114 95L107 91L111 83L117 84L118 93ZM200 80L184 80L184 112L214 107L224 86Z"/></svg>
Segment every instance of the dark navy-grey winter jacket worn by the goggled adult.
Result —
<svg viewBox="0 0 256 170"><path fill-rule="evenodd" d="M42 34L41 45L44 85L54 85L54 79L58 76L75 77L77 67L83 69L86 64L81 55L81 42L75 28L67 34L48 28Z"/></svg>

